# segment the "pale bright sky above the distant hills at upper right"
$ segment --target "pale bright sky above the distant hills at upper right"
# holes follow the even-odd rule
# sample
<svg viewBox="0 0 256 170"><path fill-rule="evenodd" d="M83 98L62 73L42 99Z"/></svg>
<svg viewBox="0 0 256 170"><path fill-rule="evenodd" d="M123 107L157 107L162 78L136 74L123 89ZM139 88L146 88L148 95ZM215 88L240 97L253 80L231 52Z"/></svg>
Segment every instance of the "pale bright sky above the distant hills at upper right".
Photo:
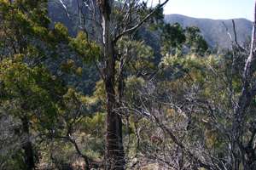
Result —
<svg viewBox="0 0 256 170"><path fill-rule="evenodd" d="M165 14L196 18L253 20L254 0L170 0Z"/></svg>

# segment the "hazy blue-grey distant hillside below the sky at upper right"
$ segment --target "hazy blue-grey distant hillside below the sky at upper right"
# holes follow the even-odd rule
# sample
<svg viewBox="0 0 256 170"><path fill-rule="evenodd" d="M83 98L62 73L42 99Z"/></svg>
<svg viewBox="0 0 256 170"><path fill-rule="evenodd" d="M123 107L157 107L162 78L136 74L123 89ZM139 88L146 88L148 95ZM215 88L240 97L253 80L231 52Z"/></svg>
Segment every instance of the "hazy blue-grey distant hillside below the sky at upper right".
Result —
<svg viewBox="0 0 256 170"><path fill-rule="evenodd" d="M199 27L202 35L212 47L230 48L231 41L225 26L234 38L232 20L197 19L180 14L168 14L165 16L165 20L166 23L171 24L177 22L183 27ZM245 42L251 36L253 24L251 21L245 19L234 20L236 23L237 40L238 42Z"/></svg>

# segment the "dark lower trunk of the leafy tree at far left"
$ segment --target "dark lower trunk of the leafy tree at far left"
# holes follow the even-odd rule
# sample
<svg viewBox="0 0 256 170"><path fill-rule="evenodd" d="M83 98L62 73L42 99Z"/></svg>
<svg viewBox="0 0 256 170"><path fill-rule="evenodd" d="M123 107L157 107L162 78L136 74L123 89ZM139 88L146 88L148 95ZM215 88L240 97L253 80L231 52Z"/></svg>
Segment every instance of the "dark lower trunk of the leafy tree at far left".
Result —
<svg viewBox="0 0 256 170"><path fill-rule="evenodd" d="M32 170L35 167L34 162L34 154L32 150L32 142L30 140L30 132L29 132L29 122L26 116L22 117L22 130L25 134L25 143L22 146L22 149L24 150L24 158L25 158L25 164L26 164L26 170Z"/></svg>

